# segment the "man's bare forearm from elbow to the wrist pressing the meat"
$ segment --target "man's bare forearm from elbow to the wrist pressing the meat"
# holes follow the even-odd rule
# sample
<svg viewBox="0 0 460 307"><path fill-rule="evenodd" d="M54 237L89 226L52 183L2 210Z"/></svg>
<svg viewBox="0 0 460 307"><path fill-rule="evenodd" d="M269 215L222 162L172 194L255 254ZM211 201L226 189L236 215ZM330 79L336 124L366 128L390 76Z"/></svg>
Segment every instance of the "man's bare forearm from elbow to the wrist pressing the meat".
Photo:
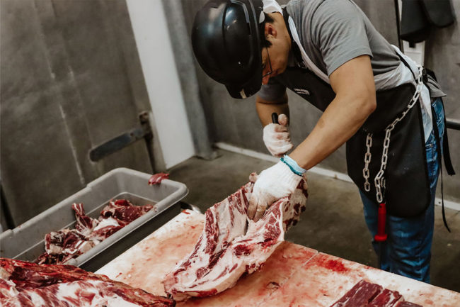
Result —
<svg viewBox="0 0 460 307"><path fill-rule="evenodd" d="M373 101L335 98L309 136L289 154L300 167L311 169L343 145L374 111Z"/></svg>

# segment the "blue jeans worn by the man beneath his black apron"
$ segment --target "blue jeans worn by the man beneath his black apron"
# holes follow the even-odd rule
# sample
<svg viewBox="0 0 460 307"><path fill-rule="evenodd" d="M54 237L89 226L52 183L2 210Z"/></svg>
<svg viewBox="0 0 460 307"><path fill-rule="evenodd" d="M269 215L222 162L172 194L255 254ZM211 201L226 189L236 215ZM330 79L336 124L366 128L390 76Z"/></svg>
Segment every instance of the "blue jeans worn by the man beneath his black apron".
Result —
<svg viewBox="0 0 460 307"><path fill-rule="evenodd" d="M435 108L437 127L442 136L444 133L444 110L441 99L432 101ZM391 146L391 144L390 144ZM437 177L439 174L439 157L434 131L425 143L427 151L428 176L430 178L431 203L425 213L413 218L398 218L386 216L386 233L388 239L383 243L381 250L381 269L412 279L430 282L430 259L433 228L435 225L435 194ZM372 245L377 255L379 243L374 242L377 233L377 210L375 199L369 199L361 194L364 204L364 218L372 234Z"/></svg>

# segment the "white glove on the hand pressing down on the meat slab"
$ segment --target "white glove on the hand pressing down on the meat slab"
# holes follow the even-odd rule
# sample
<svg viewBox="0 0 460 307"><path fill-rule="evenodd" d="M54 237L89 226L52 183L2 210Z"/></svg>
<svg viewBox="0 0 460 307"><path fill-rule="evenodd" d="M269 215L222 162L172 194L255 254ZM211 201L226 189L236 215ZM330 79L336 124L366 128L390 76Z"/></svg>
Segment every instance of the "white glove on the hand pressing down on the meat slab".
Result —
<svg viewBox="0 0 460 307"><path fill-rule="evenodd" d="M257 222L272 203L291 195L301 179L281 161L260 172L249 199L248 218Z"/></svg>

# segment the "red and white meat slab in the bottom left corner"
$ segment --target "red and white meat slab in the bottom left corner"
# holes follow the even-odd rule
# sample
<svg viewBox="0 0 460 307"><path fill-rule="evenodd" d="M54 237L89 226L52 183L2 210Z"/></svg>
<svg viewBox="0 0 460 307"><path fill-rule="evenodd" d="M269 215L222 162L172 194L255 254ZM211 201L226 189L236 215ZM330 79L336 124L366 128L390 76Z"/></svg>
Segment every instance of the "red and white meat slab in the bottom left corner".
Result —
<svg viewBox="0 0 460 307"><path fill-rule="evenodd" d="M0 306L4 307L176 305L171 299L71 265L39 265L0 258L0 277ZM5 292L6 286L10 289Z"/></svg>

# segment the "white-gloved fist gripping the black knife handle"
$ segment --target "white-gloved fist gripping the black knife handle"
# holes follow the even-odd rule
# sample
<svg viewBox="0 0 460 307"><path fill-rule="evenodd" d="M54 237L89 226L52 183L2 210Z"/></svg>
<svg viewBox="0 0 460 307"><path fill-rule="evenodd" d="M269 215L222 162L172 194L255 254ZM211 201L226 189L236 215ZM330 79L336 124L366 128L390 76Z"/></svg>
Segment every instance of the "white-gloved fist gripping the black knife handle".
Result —
<svg viewBox="0 0 460 307"><path fill-rule="evenodd" d="M275 157L282 157L292 149L291 137L287 128L287 116L278 116L277 123L269 123L263 128L263 143L268 151Z"/></svg>

